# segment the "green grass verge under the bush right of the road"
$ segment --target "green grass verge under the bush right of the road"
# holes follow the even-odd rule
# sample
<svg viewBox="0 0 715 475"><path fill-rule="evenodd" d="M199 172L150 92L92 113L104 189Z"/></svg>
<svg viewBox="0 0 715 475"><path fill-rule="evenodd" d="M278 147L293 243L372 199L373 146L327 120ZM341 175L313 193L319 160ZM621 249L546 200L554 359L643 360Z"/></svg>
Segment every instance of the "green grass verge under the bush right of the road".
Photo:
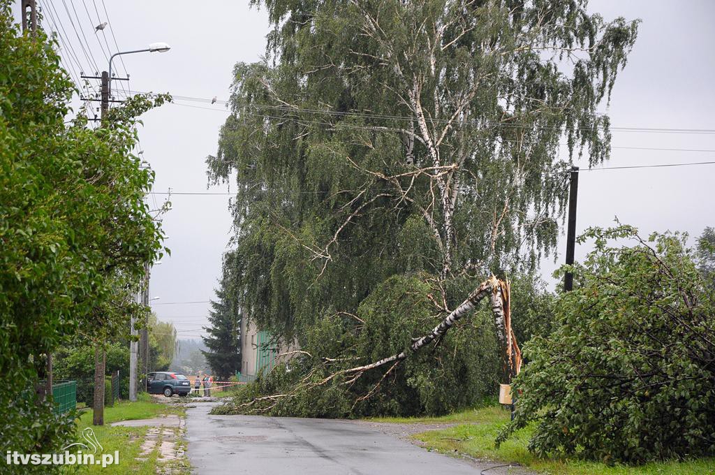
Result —
<svg viewBox="0 0 715 475"><path fill-rule="evenodd" d="M445 454L466 454L477 459L517 463L534 471L553 475L655 475L715 473L715 459L651 463L641 466L607 466L598 462L576 459L538 459L527 449L530 428L518 431L511 439L495 448L494 441L509 420L509 412L501 406L471 409L435 418L374 418L373 421L398 423L460 423L458 426L415 434L429 449Z"/></svg>

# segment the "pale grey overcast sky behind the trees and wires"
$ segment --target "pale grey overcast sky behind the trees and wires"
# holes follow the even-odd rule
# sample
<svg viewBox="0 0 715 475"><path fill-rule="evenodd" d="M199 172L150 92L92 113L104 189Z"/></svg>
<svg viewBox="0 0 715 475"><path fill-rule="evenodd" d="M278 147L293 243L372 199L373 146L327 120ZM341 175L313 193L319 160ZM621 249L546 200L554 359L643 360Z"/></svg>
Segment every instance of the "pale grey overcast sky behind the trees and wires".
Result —
<svg viewBox="0 0 715 475"><path fill-rule="evenodd" d="M80 42L99 69L107 64L100 49L100 43L107 49L104 34L112 52L117 51L112 32L121 50L142 49L154 41L169 43L172 49L167 53L123 57L133 91L227 99L234 64L257 61L265 52L267 15L250 9L247 1L104 0L107 14L100 0L96 1L97 11L93 4L81 0L37 3L64 26L64 31L59 24L56 28L84 63L85 73L94 70L87 66L90 60ZM711 25L715 2L592 0L591 10L606 19L620 15L643 20L608 107L613 127L715 129L715 29ZM94 26L104 21L109 27L95 34ZM46 25L54 29L49 18ZM69 49L68 45L61 52L65 62L71 62ZM123 74L122 64L114 64L114 70ZM118 89L119 83L115 83L114 90ZM154 200L159 204L164 200L159 193L169 188L173 192L207 190L204 160L216 152L218 131L227 117L220 104L176 102L147 113L139 132L144 160L157 174L156 194L149 196L152 207ZM715 152L617 148L715 150L715 134L614 131L613 146L608 167L715 160ZM576 165L587 167L586 162ZM715 165L582 172L577 232L591 225L611 225L618 216L644 234L680 230L699 235L704 227L715 225L714 178ZM225 192L227 187L209 191ZM174 194L172 210L164 217L169 236L166 244L172 255L152 270L150 291L152 297L159 297L152 302L157 315L176 325L179 338L199 336L206 323L208 304L204 302L214 297L222 253L230 237L228 199ZM563 241L559 262L563 260ZM586 252L588 246L577 247L576 259ZM551 260L543 263L544 278L551 285L555 268ZM184 303L194 301L200 303Z"/></svg>

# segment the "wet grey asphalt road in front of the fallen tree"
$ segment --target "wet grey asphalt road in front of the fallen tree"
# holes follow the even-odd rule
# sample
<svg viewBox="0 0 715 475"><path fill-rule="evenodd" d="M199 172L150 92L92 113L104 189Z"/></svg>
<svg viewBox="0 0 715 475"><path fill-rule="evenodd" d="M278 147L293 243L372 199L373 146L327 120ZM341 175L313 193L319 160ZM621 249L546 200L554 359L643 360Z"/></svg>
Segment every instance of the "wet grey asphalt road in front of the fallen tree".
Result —
<svg viewBox="0 0 715 475"><path fill-rule="evenodd" d="M498 465L430 452L368 425L330 419L210 416L187 409L194 473L253 475L479 475ZM490 469L487 475L515 473Z"/></svg>

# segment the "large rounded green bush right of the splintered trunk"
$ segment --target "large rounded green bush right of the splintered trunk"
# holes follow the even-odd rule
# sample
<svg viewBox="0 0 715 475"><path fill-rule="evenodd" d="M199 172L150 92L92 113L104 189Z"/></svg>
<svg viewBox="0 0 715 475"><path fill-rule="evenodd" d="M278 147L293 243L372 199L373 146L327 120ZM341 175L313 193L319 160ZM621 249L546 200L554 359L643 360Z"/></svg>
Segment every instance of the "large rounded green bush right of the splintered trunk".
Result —
<svg viewBox="0 0 715 475"><path fill-rule="evenodd" d="M528 446L638 463L715 454L715 297L685 237L593 228L595 240L554 305L556 330L534 338L514 382ZM635 240L631 247L611 240Z"/></svg>

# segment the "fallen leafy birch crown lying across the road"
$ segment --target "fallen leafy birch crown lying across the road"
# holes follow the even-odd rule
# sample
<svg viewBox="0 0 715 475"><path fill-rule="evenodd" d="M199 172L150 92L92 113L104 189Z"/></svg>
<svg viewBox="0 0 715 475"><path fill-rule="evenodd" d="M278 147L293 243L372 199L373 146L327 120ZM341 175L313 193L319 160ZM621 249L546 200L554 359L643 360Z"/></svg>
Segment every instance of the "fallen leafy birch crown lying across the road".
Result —
<svg viewBox="0 0 715 475"><path fill-rule="evenodd" d="M435 280L428 275L395 275L368 295L355 314L326 312L306 332L301 347L305 353L260 374L235 401L217 411L305 417L413 416L440 415L483 403L495 393L501 374L488 308L460 320L442 341L410 356L384 379L389 366L367 372L352 383L350 376L340 374L406 349L412 336L440 322L443 315L428 298L437 289L426 282ZM289 396L279 398L275 405L272 398L253 401L273 394Z"/></svg>

